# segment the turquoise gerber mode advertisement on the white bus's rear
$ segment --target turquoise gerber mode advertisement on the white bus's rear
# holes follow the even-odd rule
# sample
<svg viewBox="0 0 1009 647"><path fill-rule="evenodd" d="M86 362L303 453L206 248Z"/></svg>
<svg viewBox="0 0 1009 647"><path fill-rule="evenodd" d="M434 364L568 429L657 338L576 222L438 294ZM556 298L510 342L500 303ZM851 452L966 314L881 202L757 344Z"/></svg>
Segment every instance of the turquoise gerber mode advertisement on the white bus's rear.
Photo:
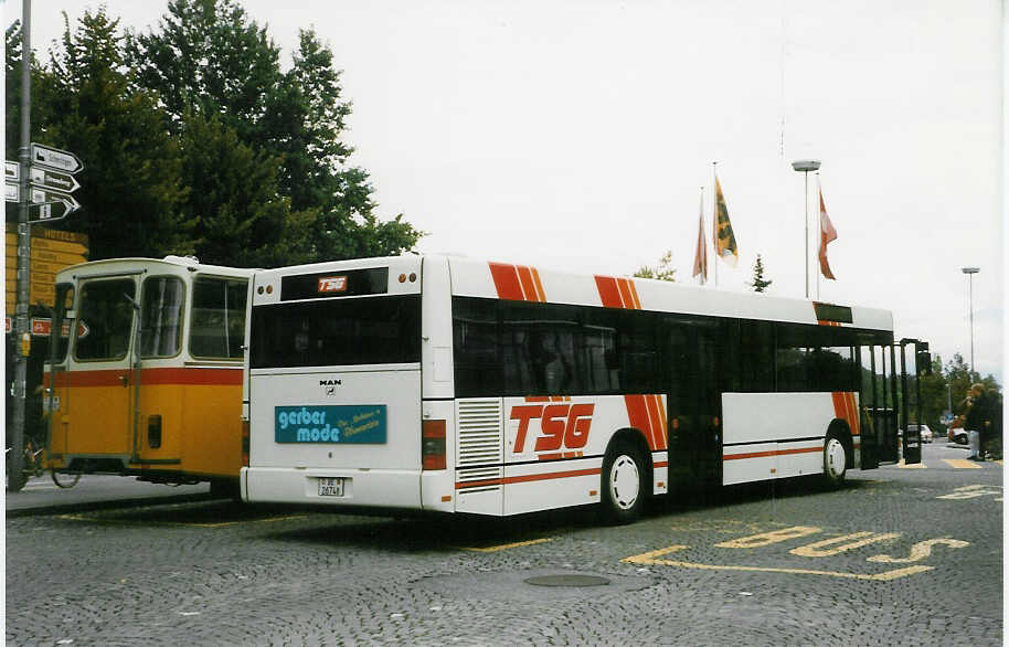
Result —
<svg viewBox="0 0 1009 647"><path fill-rule="evenodd" d="M385 443L384 404L340 406L277 406L274 438L277 443Z"/></svg>

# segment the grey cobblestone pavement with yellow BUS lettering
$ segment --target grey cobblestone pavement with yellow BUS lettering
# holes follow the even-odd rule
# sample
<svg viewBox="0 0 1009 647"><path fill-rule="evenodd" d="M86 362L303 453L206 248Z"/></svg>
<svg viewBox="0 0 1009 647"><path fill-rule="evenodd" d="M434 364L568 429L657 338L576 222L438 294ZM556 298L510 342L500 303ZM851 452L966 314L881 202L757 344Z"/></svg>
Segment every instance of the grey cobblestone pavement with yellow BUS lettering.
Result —
<svg viewBox="0 0 1009 647"><path fill-rule="evenodd" d="M8 519L7 643L1001 645L1002 468L928 463L625 527L221 501ZM559 574L608 582L527 582Z"/></svg>

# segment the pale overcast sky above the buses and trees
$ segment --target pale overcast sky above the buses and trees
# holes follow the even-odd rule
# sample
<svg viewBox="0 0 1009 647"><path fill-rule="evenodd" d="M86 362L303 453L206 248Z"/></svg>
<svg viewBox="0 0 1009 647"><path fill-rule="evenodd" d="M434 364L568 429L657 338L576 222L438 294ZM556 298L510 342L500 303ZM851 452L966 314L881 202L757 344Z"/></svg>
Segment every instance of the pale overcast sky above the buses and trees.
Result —
<svg viewBox="0 0 1009 647"><path fill-rule="evenodd" d="M147 32L166 1L107 0ZM97 2L36 0L45 51ZM896 337L1003 382L1005 42L997 0L248 0L285 60L314 28L353 104L351 162L421 252L691 282L713 166L739 245L718 285L893 311ZM4 24L21 0L3 6ZM838 238L815 272L817 182ZM713 255L709 253L713 259ZM965 266L980 272L970 279ZM970 291L973 287L973 299Z"/></svg>

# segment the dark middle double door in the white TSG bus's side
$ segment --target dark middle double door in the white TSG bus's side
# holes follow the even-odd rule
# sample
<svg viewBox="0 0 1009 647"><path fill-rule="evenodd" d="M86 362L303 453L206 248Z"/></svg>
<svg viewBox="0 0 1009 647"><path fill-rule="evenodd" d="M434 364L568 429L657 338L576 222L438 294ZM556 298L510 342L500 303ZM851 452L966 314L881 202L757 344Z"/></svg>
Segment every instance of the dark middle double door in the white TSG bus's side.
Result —
<svg viewBox="0 0 1009 647"><path fill-rule="evenodd" d="M720 328L714 321L667 318L661 330L669 389L669 479L721 485Z"/></svg>

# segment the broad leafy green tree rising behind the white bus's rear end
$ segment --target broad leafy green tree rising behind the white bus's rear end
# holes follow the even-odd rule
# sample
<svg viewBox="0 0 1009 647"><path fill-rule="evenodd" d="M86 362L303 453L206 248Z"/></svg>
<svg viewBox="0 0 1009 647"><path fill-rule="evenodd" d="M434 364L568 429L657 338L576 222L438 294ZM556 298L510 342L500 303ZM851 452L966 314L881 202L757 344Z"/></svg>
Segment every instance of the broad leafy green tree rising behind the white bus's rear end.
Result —
<svg viewBox="0 0 1009 647"><path fill-rule="evenodd" d="M298 221L287 230L300 241L298 257L397 254L416 244L423 233L402 214L379 220L368 172L348 165L353 149L341 137L350 103L340 96L332 52L314 31L300 32L293 66L283 73L279 50L234 0L171 0L159 28L128 34L127 60L138 71L137 83L162 97L174 132L185 131L189 118L216 119L215 128L234 132L251 155L275 160L270 185ZM234 219L252 212L230 208L201 199L201 218L208 223L222 211L222 226L244 227ZM295 232L305 226L307 232Z"/></svg>

